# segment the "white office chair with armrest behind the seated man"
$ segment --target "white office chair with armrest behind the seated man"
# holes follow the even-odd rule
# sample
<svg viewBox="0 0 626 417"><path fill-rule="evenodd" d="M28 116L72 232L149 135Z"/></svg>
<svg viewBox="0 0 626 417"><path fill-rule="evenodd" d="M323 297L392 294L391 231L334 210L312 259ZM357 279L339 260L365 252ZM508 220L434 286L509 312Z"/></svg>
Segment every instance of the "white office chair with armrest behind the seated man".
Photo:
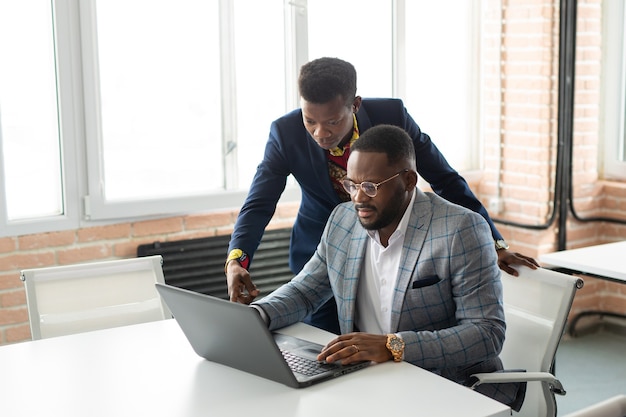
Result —
<svg viewBox="0 0 626 417"><path fill-rule="evenodd" d="M565 330L580 278L549 269L520 267L519 276L502 272L506 339L500 353L505 370L475 374L472 388L485 383L524 382L514 416L555 417L554 394L565 395L552 375L556 350ZM518 408L512 406L513 409Z"/></svg>

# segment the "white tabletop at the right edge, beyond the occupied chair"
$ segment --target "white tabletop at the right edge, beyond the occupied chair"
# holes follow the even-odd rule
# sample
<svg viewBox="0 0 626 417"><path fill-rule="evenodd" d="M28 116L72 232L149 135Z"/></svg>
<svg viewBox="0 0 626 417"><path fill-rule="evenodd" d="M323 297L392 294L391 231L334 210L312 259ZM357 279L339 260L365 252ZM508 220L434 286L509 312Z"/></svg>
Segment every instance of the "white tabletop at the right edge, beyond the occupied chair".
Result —
<svg viewBox="0 0 626 417"><path fill-rule="evenodd" d="M539 256L548 267L567 268L626 282L626 241L588 246Z"/></svg>

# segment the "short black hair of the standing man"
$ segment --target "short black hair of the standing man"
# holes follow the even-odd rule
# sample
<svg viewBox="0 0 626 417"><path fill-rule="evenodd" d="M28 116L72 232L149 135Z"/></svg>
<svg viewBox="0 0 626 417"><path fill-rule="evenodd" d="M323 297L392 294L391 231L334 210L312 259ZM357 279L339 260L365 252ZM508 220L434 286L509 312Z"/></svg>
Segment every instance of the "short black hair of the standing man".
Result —
<svg viewBox="0 0 626 417"><path fill-rule="evenodd" d="M341 96L351 105L356 97L356 70L339 58L318 58L300 68L298 89L310 103L325 104Z"/></svg>

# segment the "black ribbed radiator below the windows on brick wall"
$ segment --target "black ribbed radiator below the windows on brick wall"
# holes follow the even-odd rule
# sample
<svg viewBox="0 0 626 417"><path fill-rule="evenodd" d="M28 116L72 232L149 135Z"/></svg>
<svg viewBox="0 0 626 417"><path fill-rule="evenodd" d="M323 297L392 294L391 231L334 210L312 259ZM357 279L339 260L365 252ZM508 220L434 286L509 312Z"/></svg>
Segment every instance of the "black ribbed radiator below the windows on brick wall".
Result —
<svg viewBox="0 0 626 417"><path fill-rule="evenodd" d="M252 281L262 297L293 277L289 269L291 229L267 230L254 253ZM230 236L154 242L137 247L137 256L161 255L165 282L228 299L224 261Z"/></svg>

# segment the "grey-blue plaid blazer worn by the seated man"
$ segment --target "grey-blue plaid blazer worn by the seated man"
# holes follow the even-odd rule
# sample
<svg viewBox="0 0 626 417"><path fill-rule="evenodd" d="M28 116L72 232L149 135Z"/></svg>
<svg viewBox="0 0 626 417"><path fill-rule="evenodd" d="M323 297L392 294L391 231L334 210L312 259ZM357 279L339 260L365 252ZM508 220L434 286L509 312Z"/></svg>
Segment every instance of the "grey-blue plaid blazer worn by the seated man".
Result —
<svg viewBox="0 0 626 417"><path fill-rule="evenodd" d="M502 369L500 270L487 222L419 189L394 292L391 326L404 359L459 383ZM293 280L255 302L276 329L335 297L342 333L355 331L355 297L369 236L351 202L332 212L317 250Z"/></svg>

